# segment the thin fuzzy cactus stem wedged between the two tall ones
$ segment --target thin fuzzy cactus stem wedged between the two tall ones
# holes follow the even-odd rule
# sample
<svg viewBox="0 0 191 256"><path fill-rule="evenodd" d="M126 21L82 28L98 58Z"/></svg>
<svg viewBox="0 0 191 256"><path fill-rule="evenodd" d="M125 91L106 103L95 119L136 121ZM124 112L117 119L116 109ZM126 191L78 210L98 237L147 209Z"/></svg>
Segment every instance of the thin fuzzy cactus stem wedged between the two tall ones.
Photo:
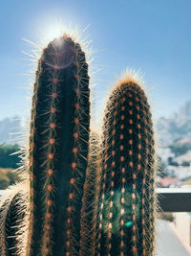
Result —
<svg viewBox="0 0 191 256"><path fill-rule="evenodd" d="M100 139L96 132L90 135L90 152L84 195L82 198L82 213L80 225L80 251L79 255L96 255L96 223L98 193L100 187Z"/></svg>

